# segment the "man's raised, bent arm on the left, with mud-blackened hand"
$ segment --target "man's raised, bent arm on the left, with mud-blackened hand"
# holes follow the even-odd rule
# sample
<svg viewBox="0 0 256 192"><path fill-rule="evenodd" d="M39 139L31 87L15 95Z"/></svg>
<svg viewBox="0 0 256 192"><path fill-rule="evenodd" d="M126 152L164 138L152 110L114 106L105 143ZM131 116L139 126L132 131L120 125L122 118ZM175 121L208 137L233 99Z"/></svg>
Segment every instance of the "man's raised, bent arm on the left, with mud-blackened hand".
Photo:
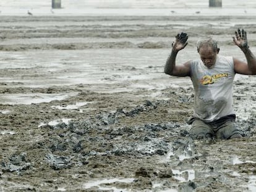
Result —
<svg viewBox="0 0 256 192"><path fill-rule="evenodd" d="M187 33L179 33L176 35L175 41L172 44L171 54L169 55L164 67L164 73L179 77L190 75L189 62L176 65L177 53L187 46L187 39Z"/></svg>

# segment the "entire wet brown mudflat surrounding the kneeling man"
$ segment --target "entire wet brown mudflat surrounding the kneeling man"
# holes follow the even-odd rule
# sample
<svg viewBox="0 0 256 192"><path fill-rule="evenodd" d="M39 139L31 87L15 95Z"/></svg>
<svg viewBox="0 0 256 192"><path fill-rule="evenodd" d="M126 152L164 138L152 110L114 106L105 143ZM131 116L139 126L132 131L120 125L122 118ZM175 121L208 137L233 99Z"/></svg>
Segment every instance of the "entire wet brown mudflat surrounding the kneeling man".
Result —
<svg viewBox="0 0 256 192"><path fill-rule="evenodd" d="M256 52L254 17L2 16L1 191L255 191L255 81L237 75L240 140L192 141L189 78L163 74L179 31L197 58L211 35L221 54ZM200 26L200 28L198 27Z"/></svg>

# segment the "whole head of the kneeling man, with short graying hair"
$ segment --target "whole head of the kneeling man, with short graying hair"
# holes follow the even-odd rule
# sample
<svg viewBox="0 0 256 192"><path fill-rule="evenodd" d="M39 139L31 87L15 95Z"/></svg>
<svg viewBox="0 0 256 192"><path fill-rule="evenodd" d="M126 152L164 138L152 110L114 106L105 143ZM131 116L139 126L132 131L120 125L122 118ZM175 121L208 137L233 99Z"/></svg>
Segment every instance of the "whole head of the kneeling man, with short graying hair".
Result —
<svg viewBox="0 0 256 192"><path fill-rule="evenodd" d="M209 69L213 68L215 65L219 51L220 48L218 48L217 42L211 38L197 42L197 52L203 64Z"/></svg>

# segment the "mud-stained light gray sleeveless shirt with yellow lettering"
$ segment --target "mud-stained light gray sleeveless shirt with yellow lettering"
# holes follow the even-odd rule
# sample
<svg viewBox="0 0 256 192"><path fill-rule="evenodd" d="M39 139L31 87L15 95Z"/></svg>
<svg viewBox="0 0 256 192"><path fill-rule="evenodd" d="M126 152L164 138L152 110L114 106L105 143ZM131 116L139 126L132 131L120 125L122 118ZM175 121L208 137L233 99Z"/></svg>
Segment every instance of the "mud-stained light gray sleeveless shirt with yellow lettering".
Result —
<svg viewBox="0 0 256 192"><path fill-rule="evenodd" d="M234 114L233 57L217 56L213 69L200 59L191 61L190 72L195 90L194 117L211 122Z"/></svg>

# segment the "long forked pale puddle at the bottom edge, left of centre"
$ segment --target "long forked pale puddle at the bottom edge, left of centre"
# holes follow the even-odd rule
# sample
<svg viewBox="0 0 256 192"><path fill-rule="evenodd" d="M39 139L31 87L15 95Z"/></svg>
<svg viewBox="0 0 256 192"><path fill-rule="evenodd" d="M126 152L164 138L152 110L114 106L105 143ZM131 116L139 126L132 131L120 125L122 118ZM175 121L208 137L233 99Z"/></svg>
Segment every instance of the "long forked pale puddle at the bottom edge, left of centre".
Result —
<svg viewBox="0 0 256 192"><path fill-rule="evenodd" d="M120 182L120 183L131 183L134 181L134 178L101 178L99 180L94 180L91 182L87 182L85 184L83 184L83 188L85 189L90 189L90 188L98 188L98 190L111 190L113 192L128 192L130 190L126 190L126 189L120 189L120 188L116 188L114 186L101 186L103 184L111 184L111 183L116 183L116 182Z"/></svg>

